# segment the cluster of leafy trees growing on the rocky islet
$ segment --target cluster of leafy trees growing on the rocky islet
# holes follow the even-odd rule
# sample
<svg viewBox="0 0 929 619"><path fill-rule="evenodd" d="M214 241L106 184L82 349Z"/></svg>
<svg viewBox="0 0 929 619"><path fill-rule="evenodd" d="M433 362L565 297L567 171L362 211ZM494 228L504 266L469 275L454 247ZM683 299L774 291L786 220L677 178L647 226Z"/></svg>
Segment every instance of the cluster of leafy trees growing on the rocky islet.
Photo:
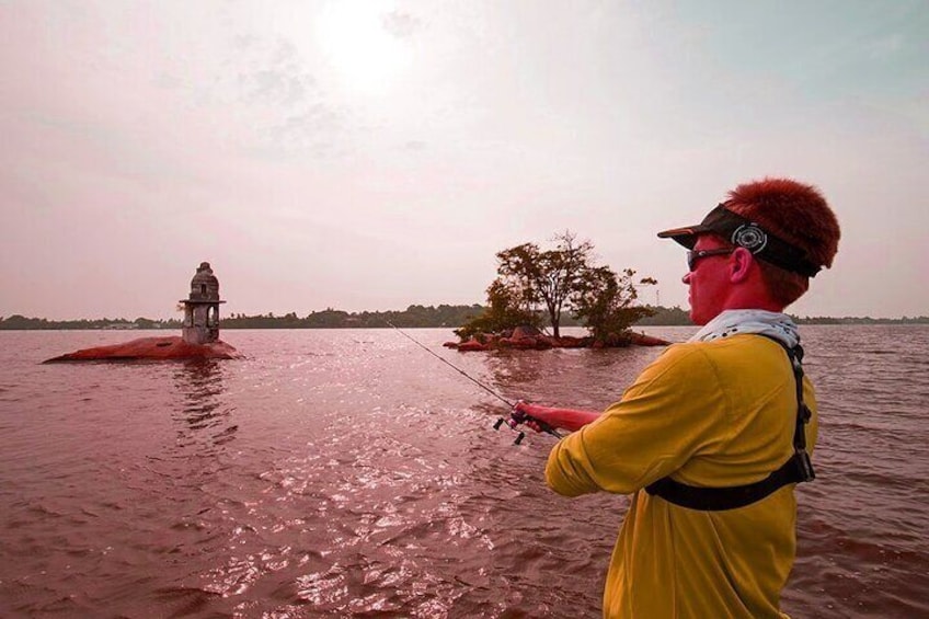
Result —
<svg viewBox="0 0 929 619"><path fill-rule="evenodd" d="M596 342L607 345L628 341L629 328L651 316L651 308L635 306L636 286L654 285L651 277L634 280L635 271L617 274L594 264L594 245L578 242L571 231L555 234L555 247L542 250L523 243L497 252L497 277L488 287L488 303L475 318L455 333L467 340L480 333L500 334L517 326L540 326L548 317L552 336L561 337L562 313L582 321Z"/></svg>

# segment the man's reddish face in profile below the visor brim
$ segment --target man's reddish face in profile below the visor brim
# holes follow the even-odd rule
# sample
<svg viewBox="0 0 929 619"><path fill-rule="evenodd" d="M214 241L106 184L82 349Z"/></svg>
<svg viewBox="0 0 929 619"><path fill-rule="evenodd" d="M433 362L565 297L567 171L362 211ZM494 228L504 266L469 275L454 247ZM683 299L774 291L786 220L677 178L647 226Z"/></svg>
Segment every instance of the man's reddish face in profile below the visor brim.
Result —
<svg viewBox="0 0 929 619"><path fill-rule="evenodd" d="M726 248L721 239L708 234L698 237L693 245L692 268L684 276L684 283L690 287L690 320L695 324L707 324L723 310L730 286L730 254L701 256L698 252Z"/></svg>

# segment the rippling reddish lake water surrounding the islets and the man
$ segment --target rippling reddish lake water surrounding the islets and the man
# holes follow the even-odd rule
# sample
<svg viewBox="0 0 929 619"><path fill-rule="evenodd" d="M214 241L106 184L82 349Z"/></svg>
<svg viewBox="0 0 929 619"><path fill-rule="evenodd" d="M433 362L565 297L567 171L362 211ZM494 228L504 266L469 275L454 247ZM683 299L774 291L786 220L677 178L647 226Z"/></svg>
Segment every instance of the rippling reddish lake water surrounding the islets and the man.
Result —
<svg viewBox="0 0 929 619"><path fill-rule="evenodd" d="M507 400L592 409L661 352L408 333ZM513 445L506 406L401 333L223 331L248 358L41 365L153 334L0 332L0 616L599 617L628 500L548 491L552 437ZM929 617L929 328L802 334L819 477L798 489L783 609Z"/></svg>

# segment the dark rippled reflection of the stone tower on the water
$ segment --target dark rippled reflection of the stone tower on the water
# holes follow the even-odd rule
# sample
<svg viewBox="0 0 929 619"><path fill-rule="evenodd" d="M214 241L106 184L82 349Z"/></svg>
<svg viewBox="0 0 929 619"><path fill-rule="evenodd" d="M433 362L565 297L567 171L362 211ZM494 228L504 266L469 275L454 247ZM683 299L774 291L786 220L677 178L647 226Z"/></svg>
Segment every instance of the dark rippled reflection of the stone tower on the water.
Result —
<svg viewBox="0 0 929 619"><path fill-rule="evenodd" d="M174 370L174 383L182 396L174 413L180 445L225 445L236 437L238 425L230 424L232 406L226 401L222 363L217 359L187 360Z"/></svg>

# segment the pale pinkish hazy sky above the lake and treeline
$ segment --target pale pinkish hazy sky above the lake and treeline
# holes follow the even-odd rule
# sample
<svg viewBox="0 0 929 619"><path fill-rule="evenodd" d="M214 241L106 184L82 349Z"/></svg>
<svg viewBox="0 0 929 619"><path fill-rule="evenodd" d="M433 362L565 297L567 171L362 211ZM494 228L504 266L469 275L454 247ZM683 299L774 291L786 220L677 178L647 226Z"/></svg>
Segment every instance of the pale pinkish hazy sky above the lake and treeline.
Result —
<svg viewBox="0 0 929 619"><path fill-rule="evenodd" d="M570 230L687 307L737 184L842 227L798 316L929 316L926 0L0 0L0 316L485 301Z"/></svg>

